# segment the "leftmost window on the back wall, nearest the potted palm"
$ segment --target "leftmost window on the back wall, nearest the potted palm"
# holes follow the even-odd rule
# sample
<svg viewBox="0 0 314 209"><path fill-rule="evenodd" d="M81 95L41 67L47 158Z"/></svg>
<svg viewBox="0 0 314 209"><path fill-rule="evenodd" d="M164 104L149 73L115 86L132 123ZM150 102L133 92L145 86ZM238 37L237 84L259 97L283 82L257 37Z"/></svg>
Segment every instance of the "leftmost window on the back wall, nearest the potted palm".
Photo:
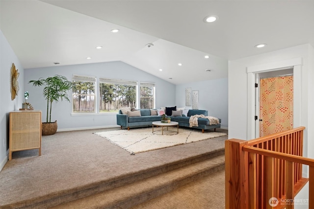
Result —
<svg viewBox="0 0 314 209"><path fill-rule="evenodd" d="M72 81L74 84L72 113L95 113L96 78L73 75Z"/></svg>

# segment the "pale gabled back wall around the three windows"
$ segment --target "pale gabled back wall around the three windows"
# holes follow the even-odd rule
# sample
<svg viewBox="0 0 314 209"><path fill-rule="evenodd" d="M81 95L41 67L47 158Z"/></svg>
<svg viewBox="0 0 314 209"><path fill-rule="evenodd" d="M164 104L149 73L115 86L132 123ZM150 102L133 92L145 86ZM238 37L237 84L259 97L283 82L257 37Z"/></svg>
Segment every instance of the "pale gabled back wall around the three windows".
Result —
<svg viewBox="0 0 314 209"><path fill-rule="evenodd" d="M47 68L25 69L25 90L29 97L27 102L31 103L34 109L41 110L43 121L46 121L47 103L42 95L42 87L33 87L28 84L30 80L37 80L40 77L47 78L55 74L64 75L72 80L72 74L96 76L97 82L100 77L126 79L134 81L146 81L156 84L156 108L161 106L175 105L175 85L149 73L134 68L123 62L106 62L95 64L83 64L72 66L57 66ZM70 92L71 96L71 92ZM98 96L98 93L97 93ZM86 128L100 128L116 126L116 114L88 114L71 115L72 102L59 101L52 104L52 121L57 120L58 131L78 130Z"/></svg>

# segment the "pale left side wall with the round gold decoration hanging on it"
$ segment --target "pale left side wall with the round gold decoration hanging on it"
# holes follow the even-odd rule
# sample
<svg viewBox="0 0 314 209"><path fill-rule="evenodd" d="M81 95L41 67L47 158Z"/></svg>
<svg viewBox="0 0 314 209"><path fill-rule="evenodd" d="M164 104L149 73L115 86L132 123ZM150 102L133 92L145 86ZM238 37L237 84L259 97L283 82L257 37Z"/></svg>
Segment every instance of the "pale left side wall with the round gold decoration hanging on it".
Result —
<svg viewBox="0 0 314 209"><path fill-rule="evenodd" d="M11 100L10 72L14 63L20 73L18 78L20 90L16 98ZM22 108L24 102L24 69L11 46L0 30L0 170L7 162L9 149L9 113Z"/></svg>

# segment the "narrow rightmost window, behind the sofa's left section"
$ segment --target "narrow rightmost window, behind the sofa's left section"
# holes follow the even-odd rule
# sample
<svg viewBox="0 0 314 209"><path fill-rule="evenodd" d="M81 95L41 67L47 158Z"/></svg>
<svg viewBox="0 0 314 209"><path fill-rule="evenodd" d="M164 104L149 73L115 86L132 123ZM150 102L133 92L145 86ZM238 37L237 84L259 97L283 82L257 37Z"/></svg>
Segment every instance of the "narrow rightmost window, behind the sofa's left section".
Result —
<svg viewBox="0 0 314 209"><path fill-rule="evenodd" d="M140 105L141 109L155 108L155 84L154 83L140 83Z"/></svg>

